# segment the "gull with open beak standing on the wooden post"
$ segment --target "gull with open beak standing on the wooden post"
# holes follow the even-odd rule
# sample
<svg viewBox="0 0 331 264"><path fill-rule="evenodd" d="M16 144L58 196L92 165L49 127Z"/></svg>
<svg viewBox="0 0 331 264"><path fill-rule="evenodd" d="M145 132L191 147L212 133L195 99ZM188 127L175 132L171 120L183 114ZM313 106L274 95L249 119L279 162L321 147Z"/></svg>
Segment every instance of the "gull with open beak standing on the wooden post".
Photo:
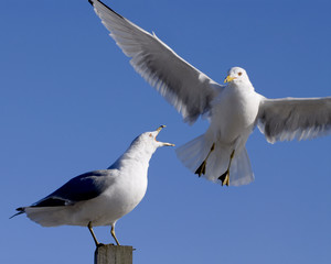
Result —
<svg viewBox="0 0 331 264"><path fill-rule="evenodd" d="M174 144L157 141L166 125L137 136L129 148L107 169L94 170L72 178L61 188L30 207L21 207L17 215L26 213L43 227L87 227L95 244L92 227L111 226L116 243L115 223L141 201L147 189L149 161L160 146ZM12 216L12 217L14 217Z"/></svg>

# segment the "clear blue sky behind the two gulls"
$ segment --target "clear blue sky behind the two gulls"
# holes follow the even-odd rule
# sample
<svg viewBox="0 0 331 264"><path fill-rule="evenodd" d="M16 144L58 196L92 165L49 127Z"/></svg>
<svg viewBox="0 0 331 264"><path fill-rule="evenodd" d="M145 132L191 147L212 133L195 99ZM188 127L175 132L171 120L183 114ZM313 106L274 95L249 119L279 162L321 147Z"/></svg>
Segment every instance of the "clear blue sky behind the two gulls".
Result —
<svg viewBox="0 0 331 264"><path fill-rule="evenodd" d="M269 98L331 96L329 0L104 0L223 81L246 68ZM87 228L41 228L14 209L70 178L109 166L135 136L181 145L190 127L108 36L87 0L3 1L0 9L0 263L93 263ZM327 264L331 261L331 136L247 142L255 182L199 179L163 147L142 202L117 223L135 264ZM96 228L113 243L109 228Z"/></svg>

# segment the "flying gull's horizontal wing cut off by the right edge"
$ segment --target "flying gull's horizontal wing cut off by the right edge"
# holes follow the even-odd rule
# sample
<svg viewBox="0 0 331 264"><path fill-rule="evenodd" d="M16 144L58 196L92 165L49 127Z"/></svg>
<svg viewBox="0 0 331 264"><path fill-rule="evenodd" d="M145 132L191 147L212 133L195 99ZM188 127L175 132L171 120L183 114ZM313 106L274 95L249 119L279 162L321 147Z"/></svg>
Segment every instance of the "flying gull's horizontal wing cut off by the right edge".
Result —
<svg viewBox="0 0 331 264"><path fill-rule="evenodd" d="M257 125L270 143L325 135L331 132L331 97L264 98Z"/></svg>

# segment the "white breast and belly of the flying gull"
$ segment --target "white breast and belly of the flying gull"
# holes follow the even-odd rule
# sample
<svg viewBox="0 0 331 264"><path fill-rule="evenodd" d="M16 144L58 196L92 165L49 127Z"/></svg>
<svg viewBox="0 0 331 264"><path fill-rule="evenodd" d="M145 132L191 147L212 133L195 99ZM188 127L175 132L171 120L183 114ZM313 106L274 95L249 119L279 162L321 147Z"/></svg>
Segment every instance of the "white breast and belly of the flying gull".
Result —
<svg viewBox="0 0 331 264"><path fill-rule="evenodd" d="M258 101L255 92L227 89L213 107L211 127L220 140L235 140L254 125Z"/></svg>

